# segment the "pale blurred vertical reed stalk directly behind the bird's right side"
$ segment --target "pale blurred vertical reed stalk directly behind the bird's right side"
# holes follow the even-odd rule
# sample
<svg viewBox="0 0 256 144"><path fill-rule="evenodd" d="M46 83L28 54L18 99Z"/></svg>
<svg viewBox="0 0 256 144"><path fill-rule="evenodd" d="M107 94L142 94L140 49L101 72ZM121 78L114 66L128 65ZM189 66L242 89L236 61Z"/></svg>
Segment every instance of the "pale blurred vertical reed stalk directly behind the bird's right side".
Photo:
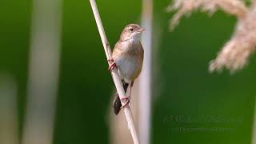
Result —
<svg viewBox="0 0 256 144"><path fill-rule="evenodd" d="M139 77L138 115L139 130L142 144L150 144L151 126L151 98L152 98L152 30L153 30L153 0L142 0L142 27L146 29L142 34L144 47L144 62L142 74Z"/></svg>

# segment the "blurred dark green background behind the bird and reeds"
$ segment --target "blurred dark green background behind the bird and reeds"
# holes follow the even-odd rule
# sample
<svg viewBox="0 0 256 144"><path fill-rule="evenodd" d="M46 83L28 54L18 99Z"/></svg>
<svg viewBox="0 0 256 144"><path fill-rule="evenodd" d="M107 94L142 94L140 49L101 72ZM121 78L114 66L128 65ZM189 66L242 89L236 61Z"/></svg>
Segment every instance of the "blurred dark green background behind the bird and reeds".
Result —
<svg viewBox="0 0 256 144"><path fill-rule="evenodd" d="M169 30L169 0L154 1L154 82L152 143L249 144L254 118L255 57L236 74L210 74L208 64L232 35L236 19L218 12L211 18L194 13ZM89 1L64 0L62 51L55 144L109 143L108 112L114 83ZM0 6L0 72L18 82L18 131L26 108L30 50L31 0L4 0ZM98 1L110 45L126 24L140 22L142 3ZM175 118L206 120L180 122ZM210 122L210 116L238 118ZM180 130L199 127L203 131ZM210 131L211 128L231 130Z"/></svg>

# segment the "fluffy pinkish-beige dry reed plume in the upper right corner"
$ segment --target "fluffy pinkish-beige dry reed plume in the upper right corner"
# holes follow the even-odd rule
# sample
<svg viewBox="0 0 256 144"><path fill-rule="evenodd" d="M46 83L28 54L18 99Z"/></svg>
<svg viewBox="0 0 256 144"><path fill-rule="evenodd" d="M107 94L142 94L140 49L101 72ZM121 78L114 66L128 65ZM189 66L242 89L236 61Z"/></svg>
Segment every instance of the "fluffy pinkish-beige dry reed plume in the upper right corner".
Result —
<svg viewBox="0 0 256 144"><path fill-rule="evenodd" d="M256 49L256 0L252 0L250 6L241 0L174 0L167 7L168 12L177 10L170 21L170 29L178 25L182 16L194 10L214 14L218 9L234 15L238 22L232 38L222 47L217 58L210 62L209 70L213 72L226 68L232 73L241 70Z"/></svg>

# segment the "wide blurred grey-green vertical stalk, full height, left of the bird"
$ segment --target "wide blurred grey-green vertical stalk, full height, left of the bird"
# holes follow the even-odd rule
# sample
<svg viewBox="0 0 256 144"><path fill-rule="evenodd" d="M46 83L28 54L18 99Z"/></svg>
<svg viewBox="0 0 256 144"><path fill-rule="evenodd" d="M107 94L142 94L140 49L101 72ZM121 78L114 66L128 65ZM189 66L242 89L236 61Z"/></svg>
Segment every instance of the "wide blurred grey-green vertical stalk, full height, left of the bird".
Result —
<svg viewBox="0 0 256 144"><path fill-rule="evenodd" d="M34 0L23 144L50 144L58 92L61 0Z"/></svg>

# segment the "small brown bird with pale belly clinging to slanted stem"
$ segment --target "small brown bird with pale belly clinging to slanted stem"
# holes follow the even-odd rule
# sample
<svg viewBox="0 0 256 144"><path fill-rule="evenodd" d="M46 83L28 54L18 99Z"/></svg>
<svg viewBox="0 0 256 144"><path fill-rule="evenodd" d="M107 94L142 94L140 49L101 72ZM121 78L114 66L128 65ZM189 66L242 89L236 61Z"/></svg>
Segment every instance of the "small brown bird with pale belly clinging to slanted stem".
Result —
<svg viewBox="0 0 256 144"><path fill-rule="evenodd" d="M115 66L118 68L118 73L122 79L122 86L126 92L128 86L133 86L134 80L138 78L138 75L142 71L142 63L144 57L144 50L141 42L139 41L142 31L141 26L137 24L130 24L122 30L119 41L115 44L110 70L114 69ZM125 97L126 106L130 102L130 96ZM118 115L122 109L122 103L118 97L118 93L115 94L113 108L114 114Z"/></svg>

